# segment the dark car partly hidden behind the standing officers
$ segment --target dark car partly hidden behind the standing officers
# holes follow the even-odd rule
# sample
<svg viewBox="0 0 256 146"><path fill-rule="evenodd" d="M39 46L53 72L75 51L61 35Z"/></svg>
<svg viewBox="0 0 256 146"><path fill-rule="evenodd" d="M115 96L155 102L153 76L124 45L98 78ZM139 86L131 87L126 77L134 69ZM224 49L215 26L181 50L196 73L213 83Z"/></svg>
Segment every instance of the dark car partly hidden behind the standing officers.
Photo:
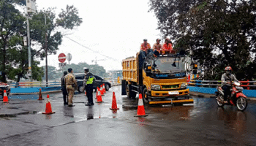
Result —
<svg viewBox="0 0 256 146"><path fill-rule="evenodd" d="M76 73L74 74L75 76L75 80L78 83L78 92L82 93L84 92L84 88L83 88L83 80L85 77L84 73ZM108 91L111 88L111 83L108 82L107 80L102 79L102 77L99 77L97 75L94 75L95 77L95 83L94 83L94 90L97 90L97 87L100 87L100 85L102 85L103 83L105 84L105 89L106 91Z"/></svg>

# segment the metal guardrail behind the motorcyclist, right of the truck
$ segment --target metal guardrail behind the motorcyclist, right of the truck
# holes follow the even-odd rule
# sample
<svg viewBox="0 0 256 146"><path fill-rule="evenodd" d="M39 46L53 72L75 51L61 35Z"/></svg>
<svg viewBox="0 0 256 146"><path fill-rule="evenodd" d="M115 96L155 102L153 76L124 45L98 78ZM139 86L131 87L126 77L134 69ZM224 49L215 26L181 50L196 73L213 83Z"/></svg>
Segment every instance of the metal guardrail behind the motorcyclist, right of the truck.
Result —
<svg viewBox="0 0 256 146"><path fill-rule="evenodd" d="M204 82L210 82L210 83L204 83ZM188 85L195 85L197 87L200 86L220 86L221 80L187 80ZM241 87L244 87L246 89L255 88L256 87L256 81L239 81L242 83Z"/></svg>

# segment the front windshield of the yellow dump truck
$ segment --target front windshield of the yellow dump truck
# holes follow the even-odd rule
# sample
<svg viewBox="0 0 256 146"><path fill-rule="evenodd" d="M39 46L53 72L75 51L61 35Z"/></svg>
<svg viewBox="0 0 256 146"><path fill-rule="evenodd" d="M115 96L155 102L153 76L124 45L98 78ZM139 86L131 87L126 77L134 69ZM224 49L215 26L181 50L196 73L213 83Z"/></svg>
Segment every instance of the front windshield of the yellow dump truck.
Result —
<svg viewBox="0 0 256 146"><path fill-rule="evenodd" d="M184 58L156 58L152 61L155 64L155 72L174 73L184 72Z"/></svg>

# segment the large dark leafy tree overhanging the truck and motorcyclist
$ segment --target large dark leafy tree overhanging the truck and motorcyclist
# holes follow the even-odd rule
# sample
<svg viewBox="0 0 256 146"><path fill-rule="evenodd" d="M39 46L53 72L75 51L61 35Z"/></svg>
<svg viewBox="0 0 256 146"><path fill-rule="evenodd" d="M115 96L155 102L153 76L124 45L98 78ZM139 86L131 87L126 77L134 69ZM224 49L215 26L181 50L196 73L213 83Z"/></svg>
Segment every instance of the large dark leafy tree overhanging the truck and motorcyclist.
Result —
<svg viewBox="0 0 256 146"><path fill-rule="evenodd" d="M238 80L252 78L247 72L255 66L255 0L151 0L150 6L162 34L176 40L175 49L200 59L208 80L219 80L225 66Z"/></svg>

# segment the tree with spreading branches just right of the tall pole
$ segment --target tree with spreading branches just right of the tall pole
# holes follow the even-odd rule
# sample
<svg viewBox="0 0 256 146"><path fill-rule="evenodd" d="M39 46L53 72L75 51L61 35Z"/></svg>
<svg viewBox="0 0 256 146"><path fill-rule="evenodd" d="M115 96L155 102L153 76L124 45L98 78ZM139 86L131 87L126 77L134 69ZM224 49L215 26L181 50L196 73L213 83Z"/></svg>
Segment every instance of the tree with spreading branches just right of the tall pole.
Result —
<svg viewBox="0 0 256 146"><path fill-rule="evenodd" d="M78 16L78 10L74 6L68 6L66 9L61 9L59 18L53 12L55 8L40 10L36 15L33 15L31 24L31 39L37 42L40 49L37 50L37 55L41 59L45 57L45 75L48 82L48 59L50 54L56 54L61 45L62 37L60 28L72 30L75 26L80 26L82 18ZM46 20L46 24L45 24Z"/></svg>

